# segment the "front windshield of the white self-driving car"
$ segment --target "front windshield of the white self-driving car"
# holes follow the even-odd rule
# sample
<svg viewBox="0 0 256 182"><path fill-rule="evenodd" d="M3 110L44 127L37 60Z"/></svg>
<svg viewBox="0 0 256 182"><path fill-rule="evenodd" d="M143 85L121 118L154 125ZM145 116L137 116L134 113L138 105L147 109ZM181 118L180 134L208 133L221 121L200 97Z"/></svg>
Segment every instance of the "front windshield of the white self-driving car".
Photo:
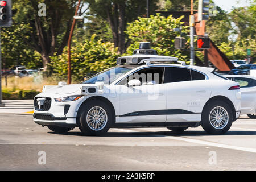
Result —
<svg viewBox="0 0 256 182"><path fill-rule="evenodd" d="M129 72L133 68L128 67L113 67L102 71L87 80L83 81L82 84L95 84L97 81L102 81L104 84L111 84L117 78L125 75L125 73Z"/></svg>

